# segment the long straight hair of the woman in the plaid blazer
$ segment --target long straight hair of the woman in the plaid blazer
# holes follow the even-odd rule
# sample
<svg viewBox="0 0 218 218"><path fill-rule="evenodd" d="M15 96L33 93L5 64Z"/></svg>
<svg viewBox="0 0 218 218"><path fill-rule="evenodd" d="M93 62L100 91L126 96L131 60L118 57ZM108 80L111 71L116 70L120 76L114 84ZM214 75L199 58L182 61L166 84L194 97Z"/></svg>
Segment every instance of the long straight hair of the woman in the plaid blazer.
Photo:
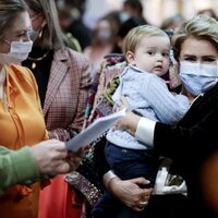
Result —
<svg viewBox="0 0 218 218"><path fill-rule="evenodd" d="M24 0L27 7L36 14L43 13L47 24L43 28L40 47L44 49L59 49L68 44L62 33L55 0Z"/></svg>

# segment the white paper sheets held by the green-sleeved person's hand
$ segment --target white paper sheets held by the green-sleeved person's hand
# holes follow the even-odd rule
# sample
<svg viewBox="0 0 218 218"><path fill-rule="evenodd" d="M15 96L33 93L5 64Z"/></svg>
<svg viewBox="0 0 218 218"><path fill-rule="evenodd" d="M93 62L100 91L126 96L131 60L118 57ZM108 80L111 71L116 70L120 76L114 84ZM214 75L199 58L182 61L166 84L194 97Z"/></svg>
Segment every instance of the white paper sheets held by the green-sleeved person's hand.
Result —
<svg viewBox="0 0 218 218"><path fill-rule="evenodd" d="M89 145L93 141L97 140L105 131L109 130L116 122L125 116L125 109L119 112L98 118L89 126L83 130L72 140L65 143L66 148L76 152L80 147Z"/></svg>

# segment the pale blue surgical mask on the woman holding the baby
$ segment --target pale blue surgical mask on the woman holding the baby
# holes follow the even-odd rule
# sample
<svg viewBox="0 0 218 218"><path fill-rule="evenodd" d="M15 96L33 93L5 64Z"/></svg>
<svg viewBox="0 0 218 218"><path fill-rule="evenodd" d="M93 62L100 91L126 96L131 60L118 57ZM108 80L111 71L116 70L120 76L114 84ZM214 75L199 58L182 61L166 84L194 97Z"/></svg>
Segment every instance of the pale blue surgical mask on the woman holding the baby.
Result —
<svg viewBox="0 0 218 218"><path fill-rule="evenodd" d="M180 78L194 96L213 88L218 82L218 65L180 62Z"/></svg>

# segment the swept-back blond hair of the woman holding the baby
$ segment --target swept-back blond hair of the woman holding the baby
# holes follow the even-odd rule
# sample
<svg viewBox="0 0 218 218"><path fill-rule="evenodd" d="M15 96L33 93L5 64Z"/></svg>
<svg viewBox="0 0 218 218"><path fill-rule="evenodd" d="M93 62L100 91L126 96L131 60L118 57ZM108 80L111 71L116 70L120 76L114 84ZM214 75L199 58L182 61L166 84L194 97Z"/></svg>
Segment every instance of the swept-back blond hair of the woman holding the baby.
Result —
<svg viewBox="0 0 218 218"><path fill-rule="evenodd" d="M171 38L175 60L179 60L181 47L190 37L208 40L218 50L218 22L208 15L198 15L183 23Z"/></svg>

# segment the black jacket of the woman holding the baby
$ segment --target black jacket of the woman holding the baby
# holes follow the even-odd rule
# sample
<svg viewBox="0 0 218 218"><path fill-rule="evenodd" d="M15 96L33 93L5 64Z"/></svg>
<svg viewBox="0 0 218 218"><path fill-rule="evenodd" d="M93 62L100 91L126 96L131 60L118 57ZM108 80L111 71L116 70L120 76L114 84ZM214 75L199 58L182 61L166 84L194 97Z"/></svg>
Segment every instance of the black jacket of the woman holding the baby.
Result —
<svg viewBox="0 0 218 218"><path fill-rule="evenodd" d="M198 96L177 125L157 123L154 147L159 155L172 158L185 179L193 216L213 217L202 197L198 177L202 164L218 150L218 84Z"/></svg>

